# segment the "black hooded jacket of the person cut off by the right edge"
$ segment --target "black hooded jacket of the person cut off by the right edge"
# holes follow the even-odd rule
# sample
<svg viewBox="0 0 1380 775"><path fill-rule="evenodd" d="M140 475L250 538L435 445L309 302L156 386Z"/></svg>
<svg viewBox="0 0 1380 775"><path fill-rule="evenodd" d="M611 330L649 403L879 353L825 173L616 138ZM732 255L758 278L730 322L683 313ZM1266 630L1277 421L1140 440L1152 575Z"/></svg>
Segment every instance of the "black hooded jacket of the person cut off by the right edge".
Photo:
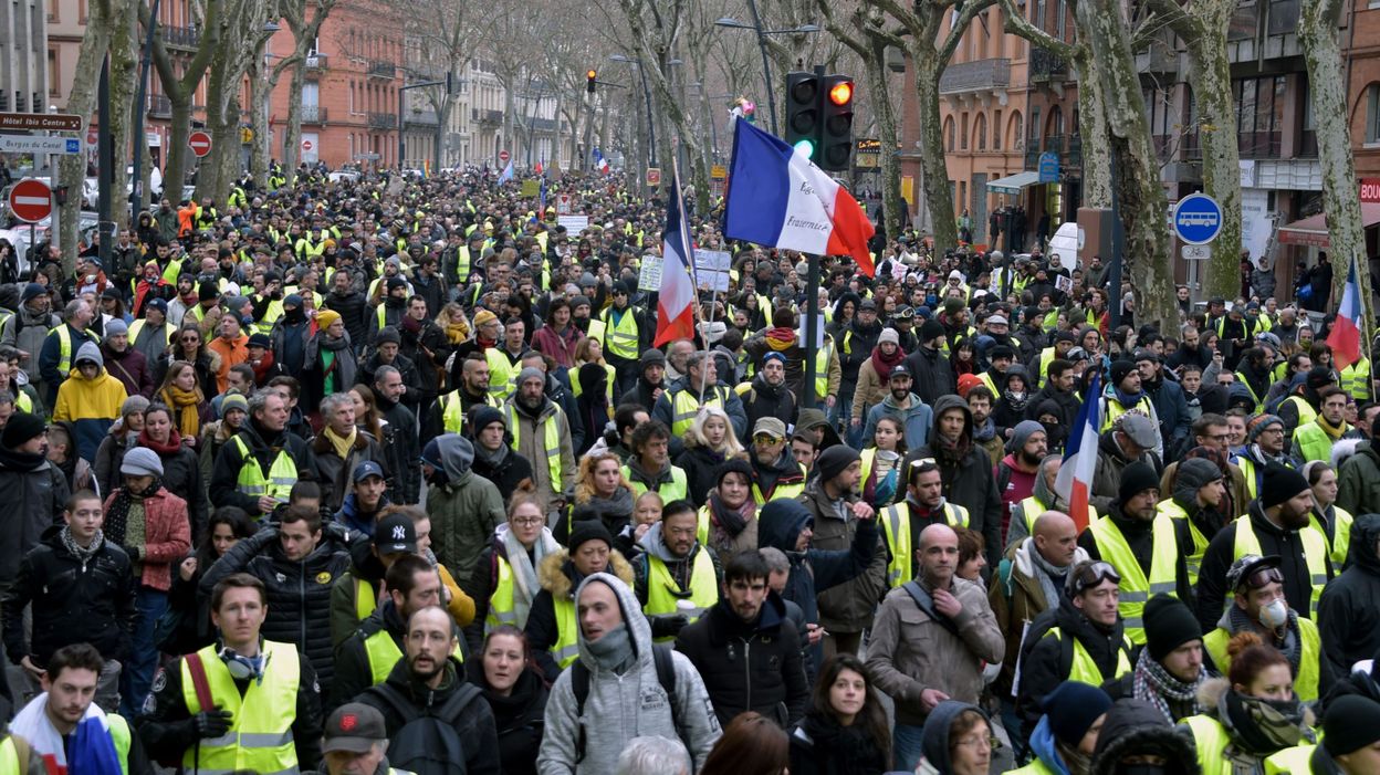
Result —
<svg viewBox="0 0 1380 775"><path fill-rule="evenodd" d="M1380 514L1362 514L1351 525L1347 570L1322 592L1318 634L1332 674L1351 674L1351 666L1380 651ZM1288 581L1288 579L1286 579Z"/></svg>

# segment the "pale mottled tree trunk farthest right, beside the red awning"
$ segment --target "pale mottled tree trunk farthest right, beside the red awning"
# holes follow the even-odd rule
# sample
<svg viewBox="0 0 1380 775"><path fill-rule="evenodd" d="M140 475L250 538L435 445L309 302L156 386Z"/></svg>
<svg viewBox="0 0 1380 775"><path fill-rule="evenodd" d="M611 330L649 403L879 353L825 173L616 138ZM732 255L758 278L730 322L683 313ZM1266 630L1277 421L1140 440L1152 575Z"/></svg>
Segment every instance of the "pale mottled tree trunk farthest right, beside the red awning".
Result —
<svg viewBox="0 0 1380 775"><path fill-rule="evenodd" d="M1370 266L1366 261L1365 233L1361 226L1361 200L1357 196L1357 167L1351 157L1347 131L1347 79L1341 68L1337 40L1343 3L1340 0L1304 0L1299 15L1299 40L1308 66L1308 94L1318 127L1318 161L1322 164L1322 207L1332 240L1333 306L1341 302L1347 269L1355 259L1362 303L1370 301ZM1373 310L1366 309L1369 335ZM1369 341L1369 339L1363 339Z"/></svg>

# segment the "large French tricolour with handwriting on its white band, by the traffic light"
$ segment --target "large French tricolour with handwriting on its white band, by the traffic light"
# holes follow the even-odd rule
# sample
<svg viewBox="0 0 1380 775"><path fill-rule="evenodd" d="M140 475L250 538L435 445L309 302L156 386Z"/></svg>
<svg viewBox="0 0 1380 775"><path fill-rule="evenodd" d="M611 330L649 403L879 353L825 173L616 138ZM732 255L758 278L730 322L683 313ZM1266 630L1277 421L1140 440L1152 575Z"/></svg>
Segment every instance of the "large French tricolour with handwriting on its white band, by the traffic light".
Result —
<svg viewBox="0 0 1380 775"><path fill-rule="evenodd" d="M851 255L871 277L875 229L853 194L809 157L749 121L733 123L723 233L814 255Z"/></svg>

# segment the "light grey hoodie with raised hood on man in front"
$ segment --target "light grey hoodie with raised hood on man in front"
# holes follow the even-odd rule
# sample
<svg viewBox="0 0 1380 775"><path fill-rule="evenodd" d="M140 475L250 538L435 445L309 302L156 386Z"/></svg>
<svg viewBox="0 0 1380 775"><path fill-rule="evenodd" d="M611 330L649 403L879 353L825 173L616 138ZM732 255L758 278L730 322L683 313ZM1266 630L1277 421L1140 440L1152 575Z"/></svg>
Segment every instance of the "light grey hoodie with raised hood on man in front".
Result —
<svg viewBox="0 0 1380 775"><path fill-rule="evenodd" d="M638 598L618 578L593 574L575 590L575 600L591 583L606 583L618 597L622 621L628 626L636 666L618 676L600 670L589 652L584 632L578 636L580 661L589 669L589 695L585 698L582 725L585 757L575 763L575 741L580 739L581 718L575 717L575 695L570 685L571 670L566 670L551 687L546 701L546 732L537 756L541 775L591 774L607 775L617 769L618 754L633 738L657 735L680 739L694 757L694 769L704 767L709 749L722 735L713 705L694 669L683 654L671 652L676 673L676 710L672 716L665 690L657 680L657 666L651 656L651 626L642 615ZM679 720L679 729L675 720Z"/></svg>

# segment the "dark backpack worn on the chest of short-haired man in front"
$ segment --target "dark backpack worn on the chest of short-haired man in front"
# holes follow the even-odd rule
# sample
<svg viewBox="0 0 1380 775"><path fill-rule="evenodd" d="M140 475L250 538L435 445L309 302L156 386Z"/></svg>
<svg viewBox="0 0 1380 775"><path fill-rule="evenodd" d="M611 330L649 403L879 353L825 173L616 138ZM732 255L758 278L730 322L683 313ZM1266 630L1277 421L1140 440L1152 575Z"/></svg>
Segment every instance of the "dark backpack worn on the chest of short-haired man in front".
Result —
<svg viewBox="0 0 1380 775"><path fill-rule="evenodd" d="M465 775L465 743L460 739L455 721L471 702L482 696L476 685L461 683L444 705L428 707L420 714L402 692L388 684L370 687L368 694L407 720L388 743L391 765L417 775Z"/></svg>

